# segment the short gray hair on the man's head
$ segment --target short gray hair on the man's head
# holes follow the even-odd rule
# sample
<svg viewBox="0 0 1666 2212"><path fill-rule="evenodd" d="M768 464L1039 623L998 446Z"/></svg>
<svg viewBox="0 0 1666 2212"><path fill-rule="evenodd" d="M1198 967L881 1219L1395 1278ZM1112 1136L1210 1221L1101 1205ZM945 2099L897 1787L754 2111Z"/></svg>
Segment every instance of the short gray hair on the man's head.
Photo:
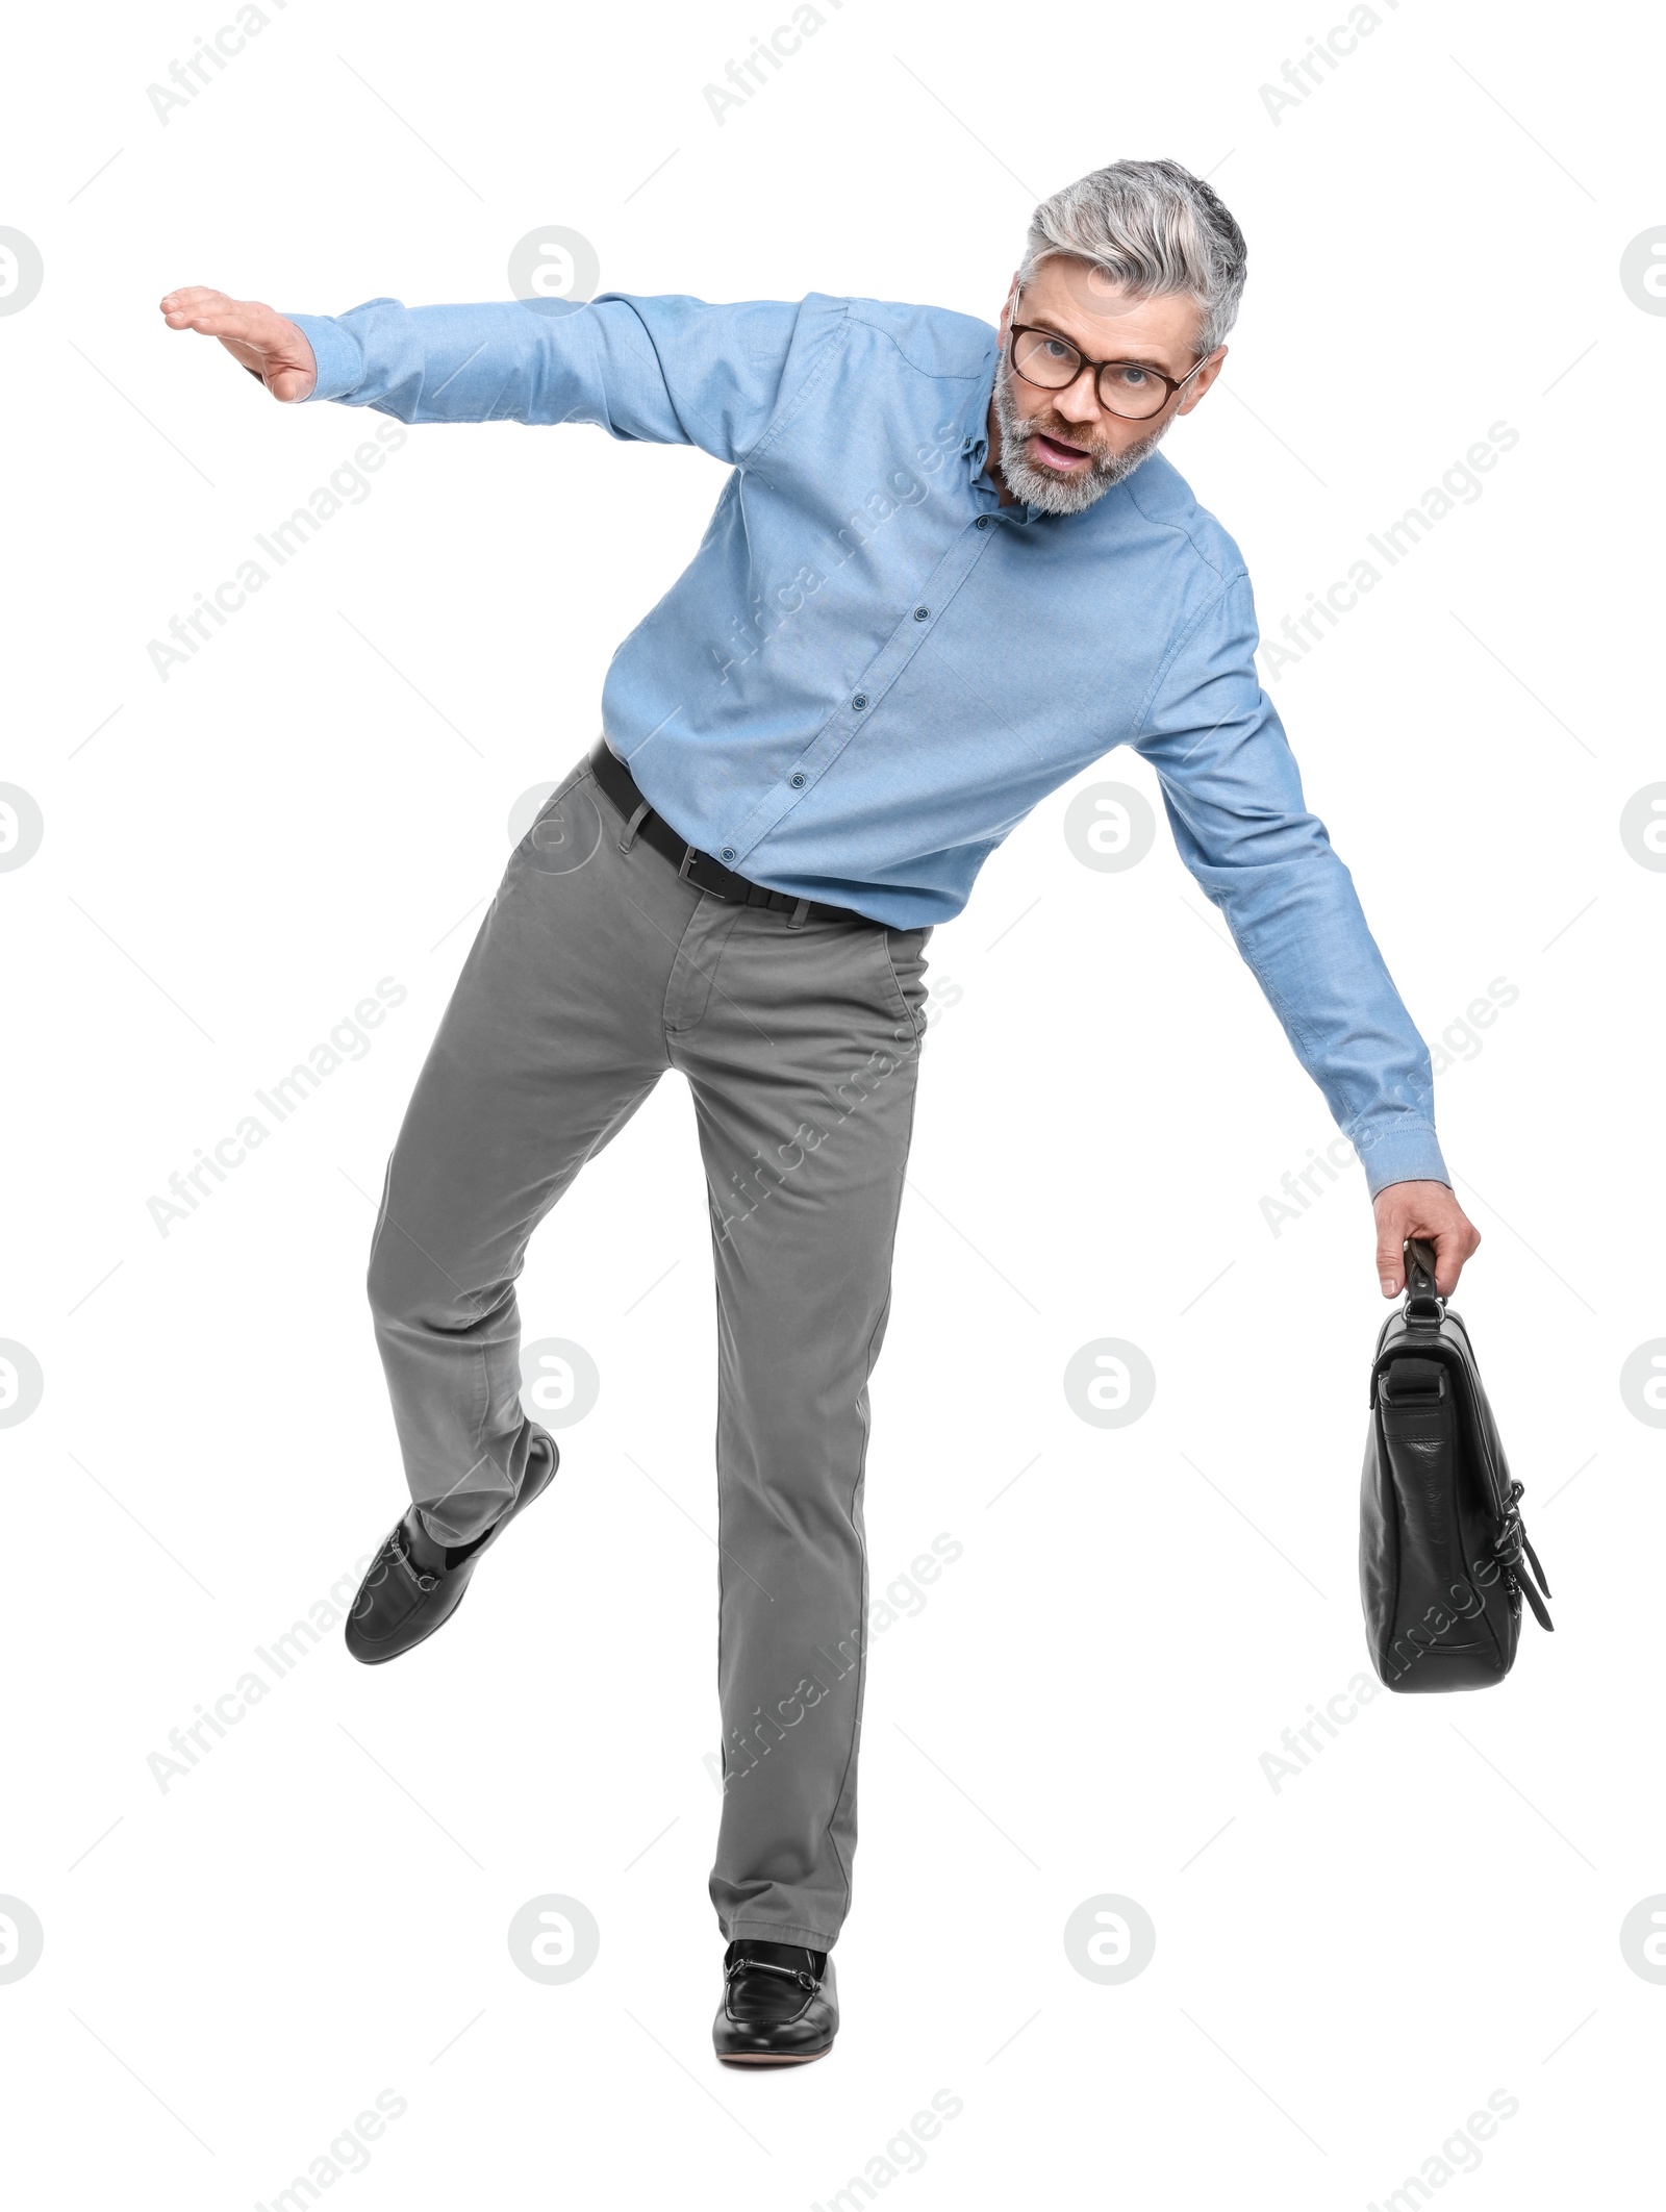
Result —
<svg viewBox="0 0 1666 2212"><path fill-rule="evenodd" d="M1237 321L1248 270L1243 232L1219 195L1179 161L1113 161L1053 192L1029 221L1020 283L1049 254L1089 261L1144 299L1190 294L1204 354Z"/></svg>

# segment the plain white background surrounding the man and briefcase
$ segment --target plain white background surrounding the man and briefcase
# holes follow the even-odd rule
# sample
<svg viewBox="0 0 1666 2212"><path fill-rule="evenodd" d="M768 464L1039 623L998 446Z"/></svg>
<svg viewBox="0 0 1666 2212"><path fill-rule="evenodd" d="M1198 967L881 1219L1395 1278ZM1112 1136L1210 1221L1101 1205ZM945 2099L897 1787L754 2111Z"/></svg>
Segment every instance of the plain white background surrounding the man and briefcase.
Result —
<svg viewBox="0 0 1666 2212"><path fill-rule="evenodd" d="M1617 268L1666 221L1644 15L1383 0L1274 122L1261 84L1339 0L823 0L719 126L704 84L785 0L265 13L166 124L146 86L226 0L38 11L9 62L0 221L46 270L0 321L0 774L44 814L0 878L0 1336L44 1371L0 1436L0 1891L46 1936L0 1984L18 2201L270 2203L378 2090L407 2110L334 2183L363 2208L796 2208L887 2143L909 2203L1345 2208L1493 2090L1520 2108L1443 2183L1474 2212L1642 2201L1666 1986L1620 1922L1666 1891L1664 1438L1617 1376L1666 1332L1666 876L1617 821L1666 776L1666 319ZM931 947L962 995L874 1387L876 1593L938 1533L965 1555L874 1637L841 2042L739 2077L708 2042L715 1336L677 1077L533 1245L527 1334L582 1343L602 1396L458 1621L374 1672L332 1630L166 1792L146 1767L400 1511L363 1301L383 1161L509 810L595 737L721 471L416 431L164 684L146 641L378 418L274 407L155 301L500 299L511 246L564 223L604 288L993 319L1033 201L1159 153L1250 239L1226 374L1168 451L1268 633L1491 422L1520 434L1270 688L1425 1035L1520 993L1438 1117L1558 1632L1527 1626L1504 1688L1383 1694L1266 1778L1367 1666L1370 1208L1354 1168L1272 1234L1323 1102L1166 830L1095 874L1060 792ZM1102 779L1155 801L1126 754ZM367 1057L164 1239L168 1175L385 975L409 995ZM1135 1427L1064 1400L1100 1336L1155 1365ZM504 1942L540 1893L602 1929L555 1989ZM1062 1944L1100 1893L1157 1927L1117 1986ZM894 2139L936 2090L962 2110L918 2166Z"/></svg>

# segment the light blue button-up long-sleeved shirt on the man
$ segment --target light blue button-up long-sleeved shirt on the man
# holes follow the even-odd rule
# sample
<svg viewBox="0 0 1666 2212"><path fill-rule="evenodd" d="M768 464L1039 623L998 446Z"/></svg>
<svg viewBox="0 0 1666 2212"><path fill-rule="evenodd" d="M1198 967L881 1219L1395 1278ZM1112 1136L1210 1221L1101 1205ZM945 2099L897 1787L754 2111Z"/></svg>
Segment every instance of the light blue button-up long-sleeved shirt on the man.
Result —
<svg viewBox="0 0 1666 2212"><path fill-rule="evenodd" d="M1372 1192L1449 1181L1429 1053L1254 672L1239 549L1162 453L1086 513L1002 509L987 323L819 292L294 321L314 398L597 422L730 467L602 690L613 750L688 843L916 929L960 911L1040 799L1133 745Z"/></svg>

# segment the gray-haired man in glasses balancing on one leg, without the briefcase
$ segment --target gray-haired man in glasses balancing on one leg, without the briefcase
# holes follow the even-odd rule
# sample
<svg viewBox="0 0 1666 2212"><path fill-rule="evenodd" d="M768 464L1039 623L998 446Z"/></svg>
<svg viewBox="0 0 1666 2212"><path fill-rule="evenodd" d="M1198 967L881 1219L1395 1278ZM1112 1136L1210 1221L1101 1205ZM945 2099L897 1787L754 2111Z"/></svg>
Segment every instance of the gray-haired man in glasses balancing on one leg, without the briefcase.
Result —
<svg viewBox="0 0 1666 2212"><path fill-rule="evenodd" d="M604 741L509 863L389 1161L369 1298L412 1506L347 1626L372 1663L431 1635L553 1478L520 1405L527 1239L681 1068L719 1294L726 2059L821 2057L839 2024L925 945L1007 832L1135 745L1365 1164L1383 1292L1407 1237L1443 1292L1478 1243L1429 1055L1257 684L1239 551L1155 456L1221 374L1243 270L1206 184L1117 161L1035 210L998 332L823 294L162 303L279 400L600 422L730 467L611 664Z"/></svg>

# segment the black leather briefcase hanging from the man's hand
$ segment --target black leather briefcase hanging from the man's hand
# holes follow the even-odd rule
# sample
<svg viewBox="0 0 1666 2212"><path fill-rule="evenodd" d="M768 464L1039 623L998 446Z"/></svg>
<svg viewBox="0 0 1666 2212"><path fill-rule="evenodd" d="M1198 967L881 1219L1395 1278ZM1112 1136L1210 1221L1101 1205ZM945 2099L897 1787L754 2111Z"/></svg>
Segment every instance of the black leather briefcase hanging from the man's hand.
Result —
<svg viewBox="0 0 1666 2212"><path fill-rule="evenodd" d="M1469 1332L1436 1296L1434 1250L1414 1239L1405 1305L1376 1338L1358 1515L1365 1637L1389 1690L1502 1681L1522 1597L1551 1626L1520 1498Z"/></svg>

